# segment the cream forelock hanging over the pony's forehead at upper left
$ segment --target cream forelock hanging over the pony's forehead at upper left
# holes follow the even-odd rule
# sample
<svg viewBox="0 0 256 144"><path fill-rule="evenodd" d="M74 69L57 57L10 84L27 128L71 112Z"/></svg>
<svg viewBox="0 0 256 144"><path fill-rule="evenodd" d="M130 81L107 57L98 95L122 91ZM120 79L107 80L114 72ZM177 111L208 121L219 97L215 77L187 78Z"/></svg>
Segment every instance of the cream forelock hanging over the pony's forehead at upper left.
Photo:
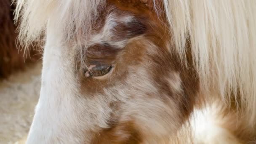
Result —
<svg viewBox="0 0 256 144"><path fill-rule="evenodd" d="M104 0L16 0L16 5L15 20L21 19L19 41L26 46L40 40L51 19L65 33L64 40L86 36Z"/></svg>

